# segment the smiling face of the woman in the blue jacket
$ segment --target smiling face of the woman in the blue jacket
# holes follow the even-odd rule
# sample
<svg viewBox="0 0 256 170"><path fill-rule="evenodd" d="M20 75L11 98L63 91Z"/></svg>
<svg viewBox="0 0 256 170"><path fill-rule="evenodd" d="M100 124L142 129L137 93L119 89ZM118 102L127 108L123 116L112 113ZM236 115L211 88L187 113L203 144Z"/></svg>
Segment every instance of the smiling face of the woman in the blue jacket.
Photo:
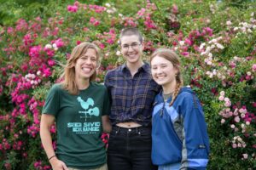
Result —
<svg viewBox="0 0 256 170"><path fill-rule="evenodd" d="M163 87L173 87L176 85L177 69L168 59L154 56L151 60L151 72L155 82Z"/></svg>

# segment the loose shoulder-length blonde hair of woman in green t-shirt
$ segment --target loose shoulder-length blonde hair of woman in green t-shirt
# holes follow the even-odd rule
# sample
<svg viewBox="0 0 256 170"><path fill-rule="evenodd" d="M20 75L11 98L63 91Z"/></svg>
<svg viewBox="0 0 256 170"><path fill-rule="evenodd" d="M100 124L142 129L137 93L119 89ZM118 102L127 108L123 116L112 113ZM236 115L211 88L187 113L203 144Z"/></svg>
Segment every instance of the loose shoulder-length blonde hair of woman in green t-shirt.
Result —
<svg viewBox="0 0 256 170"><path fill-rule="evenodd" d="M77 86L77 83L75 82L75 64L77 60L82 55L84 55L89 48L96 51L97 66L100 65L101 51L100 48L96 46L96 44L90 42L82 42L78 46L73 48L70 58L67 59L67 64L64 65L63 74L61 75L61 78L64 78L63 82L61 82L62 88L66 89L69 94L79 94L79 88ZM96 71L90 77L90 81L94 81L95 79Z"/></svg>

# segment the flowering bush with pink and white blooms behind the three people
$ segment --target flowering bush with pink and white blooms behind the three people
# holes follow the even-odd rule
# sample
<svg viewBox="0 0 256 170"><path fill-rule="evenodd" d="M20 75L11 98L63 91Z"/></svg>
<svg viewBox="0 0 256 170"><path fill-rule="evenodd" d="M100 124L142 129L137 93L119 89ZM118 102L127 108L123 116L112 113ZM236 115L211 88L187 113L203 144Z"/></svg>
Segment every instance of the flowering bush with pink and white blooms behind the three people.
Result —
<svg viewBox="0 0 256 170"><path fill-rule="evenodd" d="M103 82L108 70L124 63L117 42L127 26L143 32L145 60L160 47L180 55L184 84L205 111L208 169L255 169L253 0L1 2L0 169L50 169L39 122L61 64L80 42L94 42L102 49L96 82ZM51 133L55 139L54 126ZM102 139L108 142L106 134Z"/></svg>

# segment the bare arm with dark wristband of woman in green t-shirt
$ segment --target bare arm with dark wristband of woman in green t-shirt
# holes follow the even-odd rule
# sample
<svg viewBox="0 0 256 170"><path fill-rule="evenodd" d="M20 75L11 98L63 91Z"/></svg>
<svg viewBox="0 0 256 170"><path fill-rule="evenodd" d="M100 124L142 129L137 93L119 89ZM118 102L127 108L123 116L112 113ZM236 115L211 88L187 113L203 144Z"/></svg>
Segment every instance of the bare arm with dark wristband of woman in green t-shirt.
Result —
<svg viewBox="0 0 256 170"><path fill-rule="evenodd" d="M55 156L55 150L53 149L52 138L49 131L50 127L54 124L54 122L55 122L55 116L48 115L48 114L42 115L41 122L40 122L40 138L48 159L54 156L49 160L51 167L54 170L63 170L63 169L68 170L65 163L63 161L60 161Z"/></svg>

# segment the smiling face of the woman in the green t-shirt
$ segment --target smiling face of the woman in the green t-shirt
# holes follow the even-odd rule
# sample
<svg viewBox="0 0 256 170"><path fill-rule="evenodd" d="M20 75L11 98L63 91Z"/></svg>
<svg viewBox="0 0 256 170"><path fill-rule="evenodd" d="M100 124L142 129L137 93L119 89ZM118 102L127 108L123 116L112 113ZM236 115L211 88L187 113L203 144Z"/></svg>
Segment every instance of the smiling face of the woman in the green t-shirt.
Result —
<svg viewBox="0 0 256 170"><path fill-rule="evenodd" d="M74 65L76 79L90 80L90 77L95 73L97 67L96 50L88 48L85 54L82 54L76 60Z"/></svg>

